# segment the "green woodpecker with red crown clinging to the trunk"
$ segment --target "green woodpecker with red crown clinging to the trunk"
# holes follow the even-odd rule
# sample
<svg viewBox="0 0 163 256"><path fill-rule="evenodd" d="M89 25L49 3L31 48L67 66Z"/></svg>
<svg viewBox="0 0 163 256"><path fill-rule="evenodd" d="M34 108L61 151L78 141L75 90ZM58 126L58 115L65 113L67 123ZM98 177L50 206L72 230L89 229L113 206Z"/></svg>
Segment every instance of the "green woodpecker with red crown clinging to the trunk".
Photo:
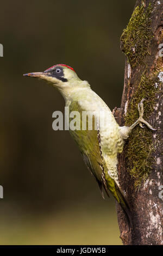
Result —
<svg viewBox="0 0 163 256"><path fill-rule="evenodd" d="M123 144L136 125L139 124L143 127L142 124L145 124L149 129L154 130L143 119L143 101L145 99L138 106L139 119L129 127L120 127L101 97L93 92L87 81L80 80L70 66L58 64L43 72L28 73L24 76L45 80L57 88L65 99L66 107L69 107L70 112L78 111L80 118L83 111L93 112L94 123L96 123L97 129L70 130L70 133L82 153L86 166L95 177L102 196L102 188L104 188L106 194L110 191L122 206L131 225L130 208L118 182L117 154L122 153ZM102 111L108 113L108 119L106 124L100 125L98 121L95 122L95 119L99 120L99 114ZM82 122L82 118L80 122Z"/></svg>

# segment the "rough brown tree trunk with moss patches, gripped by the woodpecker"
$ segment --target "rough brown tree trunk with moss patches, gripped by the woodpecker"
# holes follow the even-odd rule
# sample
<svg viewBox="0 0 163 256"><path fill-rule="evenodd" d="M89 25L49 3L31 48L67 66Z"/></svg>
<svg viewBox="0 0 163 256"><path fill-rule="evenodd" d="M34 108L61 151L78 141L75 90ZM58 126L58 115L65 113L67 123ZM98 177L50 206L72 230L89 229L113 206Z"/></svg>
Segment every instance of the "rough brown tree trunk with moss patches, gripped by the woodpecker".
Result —
<svg viewBox="0 0 163 256"><path fill-rule="evenodd" d="M137 126L118 157L120 185L131 207L133 228L117 205L118 224L124 245L163 245L162 218L162 82L163 0L138 0L129 24L121 36L126 54L124 90L118 123L131 125L144 104L144 119L157 131Z"/></svg>

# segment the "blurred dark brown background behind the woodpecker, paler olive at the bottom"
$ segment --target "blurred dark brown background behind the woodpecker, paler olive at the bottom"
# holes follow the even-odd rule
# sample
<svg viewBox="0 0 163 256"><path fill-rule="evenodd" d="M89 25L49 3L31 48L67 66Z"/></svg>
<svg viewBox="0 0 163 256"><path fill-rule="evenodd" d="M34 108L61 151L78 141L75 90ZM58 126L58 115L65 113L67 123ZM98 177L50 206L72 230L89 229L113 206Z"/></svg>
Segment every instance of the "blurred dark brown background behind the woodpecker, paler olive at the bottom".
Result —
<svg viewBox="0 0 163 256"><path fill-rule="evenodd" d="M103 200L68 131L52 130L64 100L22 74L64 63L120 106L120 36L135 0L3 1L0 244L118 245L114 199Z"/></svg>

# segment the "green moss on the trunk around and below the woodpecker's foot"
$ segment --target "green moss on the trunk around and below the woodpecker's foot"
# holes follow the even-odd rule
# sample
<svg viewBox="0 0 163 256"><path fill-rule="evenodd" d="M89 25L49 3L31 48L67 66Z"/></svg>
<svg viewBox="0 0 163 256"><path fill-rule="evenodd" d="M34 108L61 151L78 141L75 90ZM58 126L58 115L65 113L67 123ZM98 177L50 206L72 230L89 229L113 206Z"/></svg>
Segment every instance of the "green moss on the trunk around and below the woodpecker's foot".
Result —
<svg viewBox="0 0 163 256"><path fill-rule="evenodd" d="M156 70L151 75L142 75L139 87L128 106L128 112L125 118L126 126L130 126L139 118L137 105L142 99L147 99L144 102L143 118L148 121L149 115L153 112L155 94L159 92L160 88L159 72L160 70ZM154 162L152 156L154 149L152 135L153 131L147 127L141 129L139 126L136 126L129 137L126 153L127 168L135 180L135 188L140 187L142 180L147 179L152 169L151 166Z"/></svg>

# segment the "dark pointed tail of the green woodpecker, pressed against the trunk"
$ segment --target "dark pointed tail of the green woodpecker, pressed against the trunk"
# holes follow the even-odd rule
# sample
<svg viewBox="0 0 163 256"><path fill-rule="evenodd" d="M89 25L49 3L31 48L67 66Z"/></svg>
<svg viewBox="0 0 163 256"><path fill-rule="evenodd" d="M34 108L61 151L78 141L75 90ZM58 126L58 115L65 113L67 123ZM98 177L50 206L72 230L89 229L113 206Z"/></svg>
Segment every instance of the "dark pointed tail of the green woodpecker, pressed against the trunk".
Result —
<svg viewBox="0 0 163 256"><path fill-rule="evenodd" d="M129 230L130 230L133 227L130 206L127 202L126 196L125 196L124 192L122 191L122 189L116 184L116 182L115 182L115 185L116 185L117 197L119 199L118 203L121 205L121 208L122 208L124 214L126 215Z"/></svg>

